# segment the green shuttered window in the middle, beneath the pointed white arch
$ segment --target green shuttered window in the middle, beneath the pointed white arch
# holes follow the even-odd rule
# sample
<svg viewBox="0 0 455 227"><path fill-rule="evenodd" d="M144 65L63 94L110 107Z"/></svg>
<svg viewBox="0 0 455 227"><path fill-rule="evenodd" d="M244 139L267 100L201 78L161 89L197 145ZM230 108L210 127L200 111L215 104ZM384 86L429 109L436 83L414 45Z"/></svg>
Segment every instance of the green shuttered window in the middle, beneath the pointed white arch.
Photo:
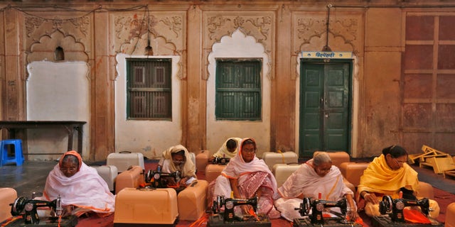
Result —
<svg viewBox="0 0 455 227"><path fill-rule="evenodd" d="M260 60L217 60L215 116L217 120L261 120Z"/></svg>

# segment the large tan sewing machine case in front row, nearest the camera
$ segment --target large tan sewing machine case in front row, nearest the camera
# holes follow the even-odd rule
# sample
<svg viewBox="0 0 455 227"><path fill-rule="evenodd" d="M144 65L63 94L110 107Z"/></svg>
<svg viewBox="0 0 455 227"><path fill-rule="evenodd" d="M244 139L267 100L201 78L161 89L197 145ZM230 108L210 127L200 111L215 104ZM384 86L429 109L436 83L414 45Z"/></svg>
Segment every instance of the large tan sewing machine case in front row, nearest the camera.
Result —
<svg viewBox="0 0 455 227"><path fill-rule="evenodd" d="M114 226L175 226L177 220L175 189L124 188L115 197Z"/></svg>

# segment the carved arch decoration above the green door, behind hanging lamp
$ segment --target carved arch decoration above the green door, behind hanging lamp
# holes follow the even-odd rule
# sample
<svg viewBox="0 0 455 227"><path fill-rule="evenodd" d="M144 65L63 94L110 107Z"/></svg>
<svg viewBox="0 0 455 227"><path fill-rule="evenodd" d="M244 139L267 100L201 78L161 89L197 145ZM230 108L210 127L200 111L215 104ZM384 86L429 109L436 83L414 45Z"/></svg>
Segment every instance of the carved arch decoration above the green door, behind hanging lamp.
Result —
<svg viewBox="0 0 455 227"><path fill-rule="evenodd" d="M299 77L297 64L302 51L321 51L326 45L326 12L316 15L294 13L292 16L292 62L296 69L292 79ZM331 14L329 20L328 46L333 51L349 51L363 57L363 12L354 14Z"/></svg>

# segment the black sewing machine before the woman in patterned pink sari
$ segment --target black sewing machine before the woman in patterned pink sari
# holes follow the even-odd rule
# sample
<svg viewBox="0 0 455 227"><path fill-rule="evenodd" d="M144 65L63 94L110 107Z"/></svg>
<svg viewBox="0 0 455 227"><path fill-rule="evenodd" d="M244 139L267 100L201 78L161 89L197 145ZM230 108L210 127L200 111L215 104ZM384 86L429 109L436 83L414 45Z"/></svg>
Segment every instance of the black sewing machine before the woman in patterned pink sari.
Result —
<svg viewBox="0 0 455 227"><path fill-rule="evenodd" d="M250 205L255 214L245 214L242 217L236 216L235 206ZM224 211L223 211L224 207ZM257 197L250 199L231 199L224 196L217 196L213 201L213 215L209 216L207 226L272 226L269 218L263 214L257 214Z"/></svg>

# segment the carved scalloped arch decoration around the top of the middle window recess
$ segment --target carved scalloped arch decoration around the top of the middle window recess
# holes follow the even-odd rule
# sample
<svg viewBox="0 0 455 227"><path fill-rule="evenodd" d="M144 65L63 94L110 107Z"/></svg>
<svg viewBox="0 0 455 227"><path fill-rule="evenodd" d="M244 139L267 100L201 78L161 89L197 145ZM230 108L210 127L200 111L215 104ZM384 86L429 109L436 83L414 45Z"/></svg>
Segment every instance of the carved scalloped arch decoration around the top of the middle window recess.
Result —
<svg viewBox="0 0 455 227"><path fill-rule="evenodd" d="M264 45L264 51L269 56L269 73L267 77L274 79L274 45L276 16L274 12L251 12L242 14L205 13L203 16L203 67L202 79L207 80L208 55L215 43L220 43L225 35L231 36L237 29L245 35L254 37L257 43Z"/></svg>

